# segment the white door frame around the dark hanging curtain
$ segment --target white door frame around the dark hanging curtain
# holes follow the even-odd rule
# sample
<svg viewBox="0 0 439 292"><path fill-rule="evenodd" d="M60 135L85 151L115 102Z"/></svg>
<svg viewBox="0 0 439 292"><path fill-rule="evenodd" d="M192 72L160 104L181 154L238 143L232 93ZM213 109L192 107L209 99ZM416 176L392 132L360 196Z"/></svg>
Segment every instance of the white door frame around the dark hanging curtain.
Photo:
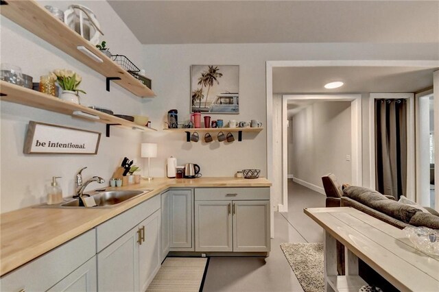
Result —
<svg viewBox="0 0 439 292"><path fill-rule="evenodd" d="M370 188L376 188L375 181L375 99L407 99L407 193L408 199L415 200L416 164L415 164L415 120L414 93L370 93L369 99L369 137L370 137Z"/></svg>

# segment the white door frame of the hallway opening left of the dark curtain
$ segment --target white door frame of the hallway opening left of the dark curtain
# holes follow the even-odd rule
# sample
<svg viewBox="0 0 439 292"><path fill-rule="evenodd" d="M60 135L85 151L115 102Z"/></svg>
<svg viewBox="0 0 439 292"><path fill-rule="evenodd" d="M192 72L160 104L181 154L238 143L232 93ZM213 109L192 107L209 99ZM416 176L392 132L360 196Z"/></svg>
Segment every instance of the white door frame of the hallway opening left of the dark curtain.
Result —
<svg viewBox="0 0 439 292"><path fill-rule="evenodd" d="M282 97L282 204L278 204L279 212L288 210L288 146L287 146L287 101L351 101L351 184L358 186L362 181L361 157L361 94L333 95L283 95ZM324 194L316 187L314 191Z"/></svg>

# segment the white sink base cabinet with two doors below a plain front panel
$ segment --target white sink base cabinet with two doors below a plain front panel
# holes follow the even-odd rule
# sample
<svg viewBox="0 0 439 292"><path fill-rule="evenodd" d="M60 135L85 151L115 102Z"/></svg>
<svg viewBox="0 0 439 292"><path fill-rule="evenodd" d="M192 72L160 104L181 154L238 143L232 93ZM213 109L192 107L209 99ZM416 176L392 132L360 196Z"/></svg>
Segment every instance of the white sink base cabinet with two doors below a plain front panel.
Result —
<svg viewBox="0 0 439 292"><path fill-rule="evenodd" d="M145 291L161 266L160 234L160 196L97 226L99 291Z"/></svg>

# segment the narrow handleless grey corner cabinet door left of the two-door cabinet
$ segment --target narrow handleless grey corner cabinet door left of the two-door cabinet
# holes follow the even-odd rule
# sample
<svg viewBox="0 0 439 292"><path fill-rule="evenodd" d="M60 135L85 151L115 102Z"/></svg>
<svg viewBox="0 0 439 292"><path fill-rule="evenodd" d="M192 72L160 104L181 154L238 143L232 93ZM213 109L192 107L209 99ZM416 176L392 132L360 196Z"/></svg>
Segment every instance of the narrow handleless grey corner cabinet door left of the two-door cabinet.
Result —
<svg viewBox="0 0 439 292"><path fill-rule="evenodd" d="M168 191L171 204L171 250L192 250L192 191Z"/></svg>

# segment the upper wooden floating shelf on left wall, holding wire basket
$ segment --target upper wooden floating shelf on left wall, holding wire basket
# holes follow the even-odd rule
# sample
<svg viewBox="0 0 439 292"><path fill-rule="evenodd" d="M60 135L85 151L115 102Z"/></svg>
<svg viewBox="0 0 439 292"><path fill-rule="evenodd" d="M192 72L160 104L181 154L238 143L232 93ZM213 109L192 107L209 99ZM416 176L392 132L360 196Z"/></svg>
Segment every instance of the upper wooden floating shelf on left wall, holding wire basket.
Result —
<svg viewBox="0 0 439 292"><path fill-rule="evenodd" d="M3 2L3 1L2 1ZM105 77L118 77L115 83L139 97L154 97L154 92L143 85L132 76L104 55L99 49L80 34L74 32L65 23L52 16L43 6L36 1L6 0L7 4L1 5L0 13L27 29L32 34L54 45L64 53L69 54L76 60L82 62L91 69ZM77 49L83 46L103 62L97 62ZM55 68L54 68L55 69Z"/></svg>

